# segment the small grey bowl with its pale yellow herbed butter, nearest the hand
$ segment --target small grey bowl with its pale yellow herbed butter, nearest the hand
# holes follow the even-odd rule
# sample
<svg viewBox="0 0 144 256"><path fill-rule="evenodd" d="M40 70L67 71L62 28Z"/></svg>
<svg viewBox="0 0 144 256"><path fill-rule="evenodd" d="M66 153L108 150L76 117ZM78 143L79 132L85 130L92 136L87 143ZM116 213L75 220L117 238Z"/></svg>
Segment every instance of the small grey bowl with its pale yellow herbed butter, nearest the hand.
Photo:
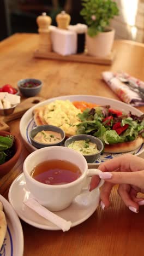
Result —
<svg viewBox="0 0 144 256"><path fill-rule="evenodd" d="M66 139L64 146L81 153L88 163L95 162L104 149L99 138L91 135L74 135Z"/></svg>

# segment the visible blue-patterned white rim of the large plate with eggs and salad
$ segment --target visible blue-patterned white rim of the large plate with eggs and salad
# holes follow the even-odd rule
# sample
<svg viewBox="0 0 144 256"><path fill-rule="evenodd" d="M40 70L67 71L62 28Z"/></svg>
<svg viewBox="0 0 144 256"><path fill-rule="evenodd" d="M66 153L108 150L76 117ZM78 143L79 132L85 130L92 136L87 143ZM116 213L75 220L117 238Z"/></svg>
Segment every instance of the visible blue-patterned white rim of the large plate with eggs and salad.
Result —
<svg viewBox="0 0 144 256"><path fill-rule="evenodd" d="M36 107L40 107L45 104L49 104L50 102L55 101L55 100L86 101L86 102L92 102L92 103L96 103L96 104L100 104L100 105L110 105L111 108L123 110L125 113L128 113L129 111L131 111L131 113L136 114L136 115L143 114L140 110L138 110L124 102L112 100L111 98L91 96L91 95L68 95L68 96L50 98L49 100L38 103ZM23 117L21 118L21 121L20 121L20 133L23 138L23 142L25 143L25 146L29 150L29 152L33 152L34 150L37 150L37 148L32 146L31 141L28 136L31 129L35 126L34 119L33 119L34 108L35 108L35 106L30 108L29 110L27 110L27 112L23 115ZM143 151L144 151L144 144L142 144L139 148L137 148L136 150L133 150L129 153L139 155ZM100 158L97 160L96 164L99 165L101 162L104 162L108 159L115 158L122 154L124 154L124 153L118 153L118 154L103 153L100 155Z"/></svg>

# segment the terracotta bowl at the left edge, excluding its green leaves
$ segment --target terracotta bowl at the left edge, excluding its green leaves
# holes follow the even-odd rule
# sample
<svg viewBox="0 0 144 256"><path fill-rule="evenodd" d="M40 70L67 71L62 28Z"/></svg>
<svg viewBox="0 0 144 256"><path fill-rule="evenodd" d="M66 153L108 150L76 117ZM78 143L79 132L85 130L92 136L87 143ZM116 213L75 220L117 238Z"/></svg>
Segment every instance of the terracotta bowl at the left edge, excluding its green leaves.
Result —
<svg viewBox="0 0 144 256"><path fill-rule="evenodd" d="M0 131L0 136L6 136L6 135L13 135L13 134L6 131ZM15 136L15 154L13 158L8 160L4 164L0 165L0 177L3 177L15 166L17 160L19 159L20 153L21 153L21 142L20 142L20 139L16 138Z"/></svg>

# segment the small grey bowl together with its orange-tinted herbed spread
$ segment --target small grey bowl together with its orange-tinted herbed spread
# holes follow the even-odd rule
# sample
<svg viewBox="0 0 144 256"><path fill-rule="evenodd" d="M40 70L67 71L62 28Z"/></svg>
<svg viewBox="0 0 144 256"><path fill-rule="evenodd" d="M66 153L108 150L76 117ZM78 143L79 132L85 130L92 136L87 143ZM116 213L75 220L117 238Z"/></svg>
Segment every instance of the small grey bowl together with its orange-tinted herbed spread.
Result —
<svg viewBox="0 0 144 256"><path fill-rule="evenodd" d="M65 139L65 132L54 125L40 125L29 132L29 138L35 148L61 146Z"/></svg>

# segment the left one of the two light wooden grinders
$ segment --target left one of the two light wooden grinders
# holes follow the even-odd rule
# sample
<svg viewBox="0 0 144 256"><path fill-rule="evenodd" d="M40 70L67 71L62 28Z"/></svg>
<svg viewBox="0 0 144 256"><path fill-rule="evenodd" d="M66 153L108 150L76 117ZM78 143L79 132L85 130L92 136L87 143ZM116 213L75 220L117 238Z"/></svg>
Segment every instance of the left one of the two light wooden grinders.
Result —
<svg viewBox="0 0 144 256"><path fill-rule="evenodd" d="M37 18L38 32L39 32L39 51L47 52L52 51L50 25L51 17L47 16L46 13L42 13Z"/></svg>

